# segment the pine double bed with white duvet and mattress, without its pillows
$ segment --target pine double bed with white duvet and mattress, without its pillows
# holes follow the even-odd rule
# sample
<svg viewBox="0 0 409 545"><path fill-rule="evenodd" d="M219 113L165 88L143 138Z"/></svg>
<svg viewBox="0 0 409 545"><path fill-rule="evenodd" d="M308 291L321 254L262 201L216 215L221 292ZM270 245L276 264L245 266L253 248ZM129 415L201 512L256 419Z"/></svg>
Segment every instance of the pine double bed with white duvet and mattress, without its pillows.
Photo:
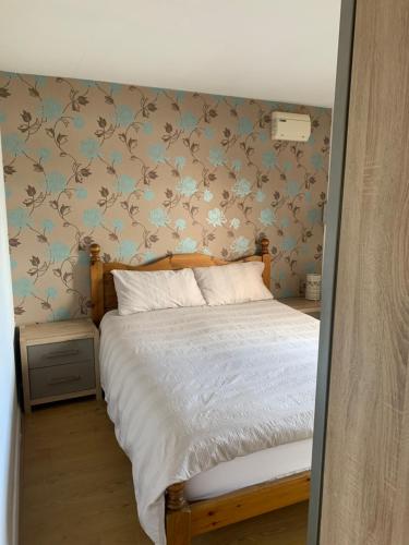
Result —
<svg viewBox="0 0 409 545"><path fill-rule="evenodd" d="M308 499L318 322L277 301L119 316L111 270L227 262L181 254L130 267L99 253L94 244L103 388L153 541L187 545ZM243 261L263 262L269 286L267 240Z"/></svg>

